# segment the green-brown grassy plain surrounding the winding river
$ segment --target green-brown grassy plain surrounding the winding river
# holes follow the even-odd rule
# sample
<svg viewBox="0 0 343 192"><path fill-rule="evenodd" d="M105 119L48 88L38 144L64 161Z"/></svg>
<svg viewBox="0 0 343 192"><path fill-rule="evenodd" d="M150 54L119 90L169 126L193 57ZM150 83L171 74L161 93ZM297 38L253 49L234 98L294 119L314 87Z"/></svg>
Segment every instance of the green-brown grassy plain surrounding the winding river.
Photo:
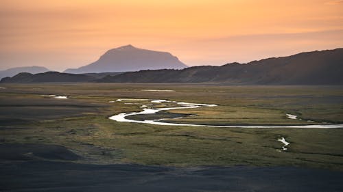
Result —
<svg viewBox="0 0 343 192"><path fill-rule="evenodd" d="M216 104L179 109L192 114L170 120L201 124L289 125L343 123L343 87L230 86L214 84L2 84L0 143L65 146L80 163L147 165L291 165L343 170L341 128L210 128L157 126L109 120L140 111L148 101L167 99ZM143 90L175 90L146 92ZM67 95L51 99L44 95ZM286 113L303 120L290 120ZM285 137L288 150L279 152Z"/></svg>

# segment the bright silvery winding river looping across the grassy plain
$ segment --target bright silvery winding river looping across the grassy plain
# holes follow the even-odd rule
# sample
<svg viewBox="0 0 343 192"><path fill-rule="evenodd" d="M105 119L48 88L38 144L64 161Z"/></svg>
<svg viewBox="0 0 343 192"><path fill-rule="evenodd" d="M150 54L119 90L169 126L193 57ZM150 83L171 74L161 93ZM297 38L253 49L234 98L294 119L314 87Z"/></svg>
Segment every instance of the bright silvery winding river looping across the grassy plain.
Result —
<svg viewBox="0 0 343 192"><path fill-rule="evenodd" d="M117 102L121 102L123 100L134 100L134 99L118 99ZM147 100L147 99L136 99L136 100ZM114 101L110 101L110 102L114 102ZM152 104L155 104L155 105L172 103L180 107L147 108L147 105L142 105L141 108L143 109L143 111L119 113L117 115L111 116L109 119L115 120L117 122L132 122L132 123L156 124L156 125L167 125L167 126L206 126L206 127L227 127L227 128L343 128L343 124L309 124L309 125L293 125L293 126L237 126L237 125L231 126L231 125L205 125L205 124L184 124L184 123L161 122L161 120L166 120L166 119L130 120L127 118L128 116L131 116L131 115L154 114L154 113L158 113L158 111L169 111L172 109L193 109L193 108L199 108L199 107L217 106L217 105L199 104L199 103L191 103L191 102L169 101L169 100L163 100L163 99L151 100L151 102ZM287 114L287 117L289 117L289 114Z"/></svg>

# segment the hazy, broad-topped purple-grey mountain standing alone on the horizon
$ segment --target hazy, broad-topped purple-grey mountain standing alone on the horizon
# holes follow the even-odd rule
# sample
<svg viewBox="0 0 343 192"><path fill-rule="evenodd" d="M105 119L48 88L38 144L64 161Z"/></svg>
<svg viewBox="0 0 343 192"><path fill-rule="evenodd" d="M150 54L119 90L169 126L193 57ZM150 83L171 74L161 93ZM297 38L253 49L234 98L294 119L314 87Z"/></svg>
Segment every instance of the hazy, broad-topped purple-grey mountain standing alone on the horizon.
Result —
<svg viewBox="0 0 343 192"><path fill-rule="evenodd" d="M64 72L82 74L97 72L127 72L137 70L182 69L187 66L167 52L139 49L132 45L111 49L97 61Z"/></svg>

